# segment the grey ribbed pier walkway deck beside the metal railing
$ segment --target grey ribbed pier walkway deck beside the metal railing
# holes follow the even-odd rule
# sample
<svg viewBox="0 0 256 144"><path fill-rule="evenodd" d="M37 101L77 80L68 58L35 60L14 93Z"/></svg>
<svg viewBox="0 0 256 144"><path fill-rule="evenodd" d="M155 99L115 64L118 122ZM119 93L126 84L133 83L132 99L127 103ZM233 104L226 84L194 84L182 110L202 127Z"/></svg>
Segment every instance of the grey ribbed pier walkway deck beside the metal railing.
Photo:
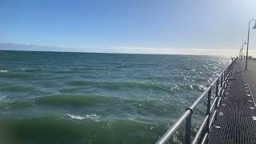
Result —
<svg viewBox="0 0 256 144"><path fill-rule="evenodd" d="M210 144L256 143L256 61L235 63L233 73L210 129Z"/></svg>

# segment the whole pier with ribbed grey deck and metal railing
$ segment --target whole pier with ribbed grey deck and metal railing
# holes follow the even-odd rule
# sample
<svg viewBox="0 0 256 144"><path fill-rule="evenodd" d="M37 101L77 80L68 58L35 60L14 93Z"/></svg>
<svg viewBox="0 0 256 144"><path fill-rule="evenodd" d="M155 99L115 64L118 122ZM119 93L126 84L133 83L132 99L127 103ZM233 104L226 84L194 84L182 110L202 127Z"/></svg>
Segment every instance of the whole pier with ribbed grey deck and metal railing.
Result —
<svg viewBox="0 0 256 144"><path fill-rule="evenodd" d="M156 143L172 143L181 128L186 144L256 143L256 61L249 59L245 67L245 59L235 58ZM200 102L206 102L205 118L191 134Z"/></svg>

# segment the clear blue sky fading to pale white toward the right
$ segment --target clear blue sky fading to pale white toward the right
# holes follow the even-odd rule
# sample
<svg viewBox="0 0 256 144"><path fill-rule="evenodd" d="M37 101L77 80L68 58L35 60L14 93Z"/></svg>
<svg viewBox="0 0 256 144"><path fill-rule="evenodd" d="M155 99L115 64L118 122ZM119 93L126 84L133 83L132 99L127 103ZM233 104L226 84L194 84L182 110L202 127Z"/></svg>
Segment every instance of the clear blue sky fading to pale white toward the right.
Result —
<svg viewBox="0 0 256 144"><path fill-rule="evenodd" d="M223 50L230 56L247 38L255 6L255 0L0 0L0 43L82 52ZM250 50L256 51L255 29Z"/></svg>

